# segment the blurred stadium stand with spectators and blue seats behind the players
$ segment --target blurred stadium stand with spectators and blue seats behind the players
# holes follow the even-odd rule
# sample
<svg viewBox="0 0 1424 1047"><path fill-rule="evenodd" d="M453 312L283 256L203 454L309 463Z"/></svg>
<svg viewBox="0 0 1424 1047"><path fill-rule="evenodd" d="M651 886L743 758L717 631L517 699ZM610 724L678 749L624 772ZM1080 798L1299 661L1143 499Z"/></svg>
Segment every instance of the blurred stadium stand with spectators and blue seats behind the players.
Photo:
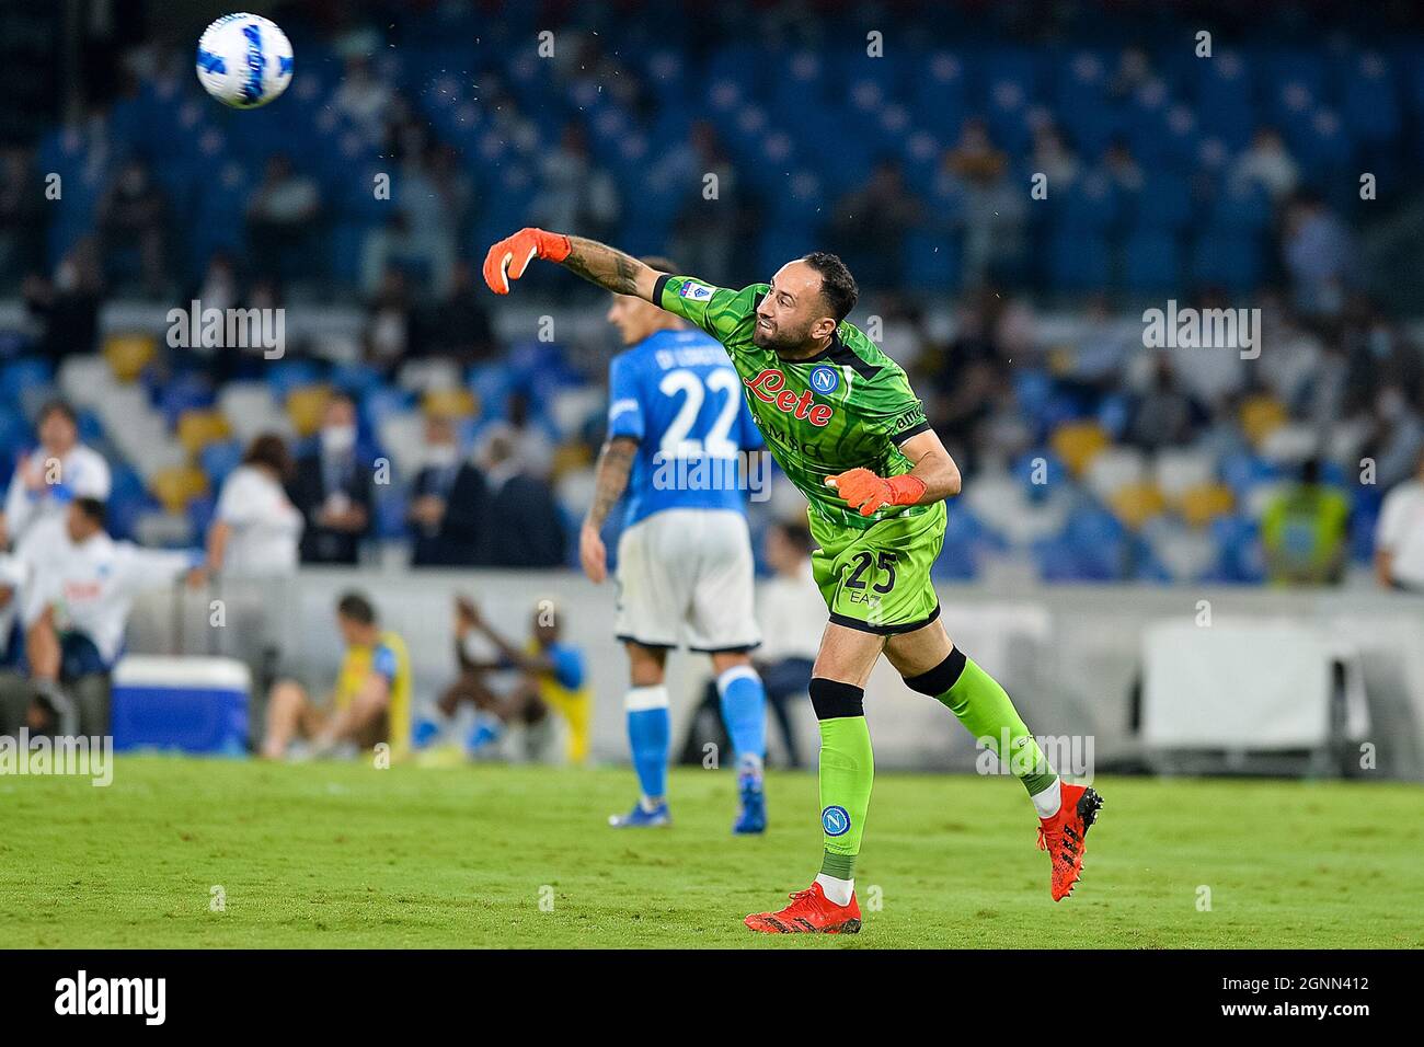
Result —
<svg viewBox="0 0 1424 1047"><path fill-rule="evenodd" d="M1202 58L1171 20L1096 40L926 17L876 60L854 16L809 38L731 7L689 40L637 6L617 36L571 24L547 61L534 21L467 4L390 28L295 11L298 74L258 113L218 111L181 51L118 48L111 97L0 152L0 286L23 303L0 469L37 390L73 386L117 534L201 544L261 493L286 506L265 540L308 563L571 564L612 342L497 322L471 265L538 224L738 286L840 252L852 319L968 477L940 577L1022 558L1047 580L1339 581L1376 556L1424 447L1424 358L1364 262L1370 208L1398 194L1363 198L1358 171L1397 185L1418 161L1417 37L1297 47L1246 24ZM530 283L560 318L600 309L557 271ZM1259 309L1259 358L1146 348L1142 308L1169 298ZM363 318L340 352L298 336L278 362L101 325L191 299ZM93 359L182 460L125 453ZM271 433L234 390L271 400ZM795 511L773 494L758 530Z"/></svg>

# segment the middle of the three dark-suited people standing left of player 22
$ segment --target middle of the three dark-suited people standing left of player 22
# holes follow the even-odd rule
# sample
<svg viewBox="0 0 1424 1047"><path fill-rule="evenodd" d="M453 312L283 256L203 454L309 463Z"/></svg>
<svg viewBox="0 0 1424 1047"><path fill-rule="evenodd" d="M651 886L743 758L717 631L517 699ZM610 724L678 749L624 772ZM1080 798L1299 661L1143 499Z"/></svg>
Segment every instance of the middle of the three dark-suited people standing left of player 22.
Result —
<svg viewBox="0 0 1424 1047"><path fill-rule="evenodd" d="M473 462L461 460L456 426L426 417L426 464L410 489L412 567L468 567L486 537L488 491Z"/></svg>

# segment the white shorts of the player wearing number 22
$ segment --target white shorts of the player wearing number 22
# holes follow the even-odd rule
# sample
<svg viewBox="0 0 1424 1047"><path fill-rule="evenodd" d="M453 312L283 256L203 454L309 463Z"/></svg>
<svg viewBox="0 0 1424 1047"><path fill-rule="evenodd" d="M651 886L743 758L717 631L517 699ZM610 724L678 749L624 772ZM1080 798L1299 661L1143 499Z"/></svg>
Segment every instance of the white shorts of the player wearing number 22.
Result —
<svg viewBox="0 0 1424 1047"><path fill-rule="evenodd" d="M746 517L665 509L618 538L618 638L644 647L745 651L762 642Z"/></svg>

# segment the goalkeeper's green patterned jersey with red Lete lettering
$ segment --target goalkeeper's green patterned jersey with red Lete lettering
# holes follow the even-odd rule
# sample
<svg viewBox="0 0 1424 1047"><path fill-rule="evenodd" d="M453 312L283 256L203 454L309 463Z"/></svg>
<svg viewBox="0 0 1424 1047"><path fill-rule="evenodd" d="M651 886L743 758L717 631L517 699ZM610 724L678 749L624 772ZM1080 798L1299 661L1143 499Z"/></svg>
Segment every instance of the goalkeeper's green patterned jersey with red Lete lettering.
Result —
<svg viewBox="0 0 1424 1047"><path fill-rule="evenodd" d="M843 321L830 346L805 360L783 360L756 345L756 306L768 291L769 283L732 291L662 275L652 301L726 346L772 456L823 523L866 530L893 516L941 513L933 503L886 507L866 517L826 486L827 476L857 466L880 476L909 473L911 463L900 444L930 423L900 365L853 323Z"/></svg>

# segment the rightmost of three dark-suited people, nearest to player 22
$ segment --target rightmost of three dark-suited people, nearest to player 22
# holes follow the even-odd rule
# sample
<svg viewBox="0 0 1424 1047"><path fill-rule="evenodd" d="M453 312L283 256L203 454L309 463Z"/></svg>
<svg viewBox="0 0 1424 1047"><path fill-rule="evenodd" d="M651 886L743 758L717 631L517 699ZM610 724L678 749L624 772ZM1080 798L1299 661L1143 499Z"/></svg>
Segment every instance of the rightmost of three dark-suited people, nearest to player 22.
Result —
<svg viewBox="0 0 1424 1047"><path fill-rule="evenodd" d="M490 567L560 567L564 524L548 484L531 476L508 426L488 434L481 456L490 489L488 540L480 563Z"/></svg>

